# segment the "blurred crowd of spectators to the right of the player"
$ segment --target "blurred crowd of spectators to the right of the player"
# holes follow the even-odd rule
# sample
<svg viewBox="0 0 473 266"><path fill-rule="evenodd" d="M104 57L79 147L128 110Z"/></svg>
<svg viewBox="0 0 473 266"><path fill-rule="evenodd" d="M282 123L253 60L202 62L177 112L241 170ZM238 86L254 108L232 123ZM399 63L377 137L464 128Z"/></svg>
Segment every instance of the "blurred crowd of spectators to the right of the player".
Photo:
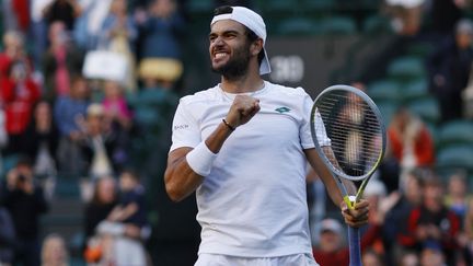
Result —
<svg viewBox="0 0 473 266"><path fill-rule="evenodd" d="M469 4L387 0L383 8L401 39L432 47L423 57L423 67L427 92L439 104L434 127L472 123L465 100L473 84L473 22L463 12ZM353 85L369 94L366 84ZM364 265L473 265L471 172L459 167L440 173L429 123L403 104L388 120L387 154L365 192L370 217L362 228ZM308 180L315 259L321 265L348 265L347 229L337 210L324 204L330 200L316 174L311 172Z"/></svg>

